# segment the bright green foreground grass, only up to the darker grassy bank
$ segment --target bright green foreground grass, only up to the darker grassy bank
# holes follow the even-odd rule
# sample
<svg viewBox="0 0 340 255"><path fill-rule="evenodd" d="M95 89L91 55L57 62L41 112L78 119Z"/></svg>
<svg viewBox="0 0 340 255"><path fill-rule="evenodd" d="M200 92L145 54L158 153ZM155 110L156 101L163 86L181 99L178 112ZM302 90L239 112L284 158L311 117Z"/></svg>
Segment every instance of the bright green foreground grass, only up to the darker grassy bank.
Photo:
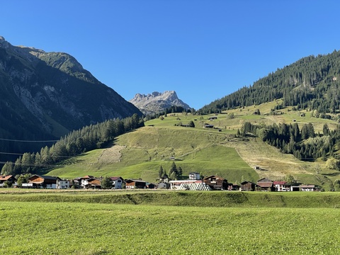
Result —
<svg viewBox="0 0 340 255"><path fill-rule="evenodd" d="M1 202L1 254L337 254L339 209Z"/></svg>

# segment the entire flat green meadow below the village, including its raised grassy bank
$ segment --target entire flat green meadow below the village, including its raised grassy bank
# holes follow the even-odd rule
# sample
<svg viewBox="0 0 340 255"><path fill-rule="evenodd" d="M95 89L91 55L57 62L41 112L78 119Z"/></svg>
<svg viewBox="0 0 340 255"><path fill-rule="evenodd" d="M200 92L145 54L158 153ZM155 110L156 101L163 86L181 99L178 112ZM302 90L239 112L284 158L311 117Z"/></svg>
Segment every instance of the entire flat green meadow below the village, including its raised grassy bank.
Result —
<svg viewBox="0 0 340 255"><path fill-rule="evenodd" d="M336 193L6 192L0 194L1 254L338 254L340 249ZM150 194L163 205L152 205ZM114 197L119 200L110 202ZM143 202L135 204L138 198ZM171 205L184 200L186 206ZM193 206L209 200L226 204ZM242 205L249 200L254 205Z"/></svg>

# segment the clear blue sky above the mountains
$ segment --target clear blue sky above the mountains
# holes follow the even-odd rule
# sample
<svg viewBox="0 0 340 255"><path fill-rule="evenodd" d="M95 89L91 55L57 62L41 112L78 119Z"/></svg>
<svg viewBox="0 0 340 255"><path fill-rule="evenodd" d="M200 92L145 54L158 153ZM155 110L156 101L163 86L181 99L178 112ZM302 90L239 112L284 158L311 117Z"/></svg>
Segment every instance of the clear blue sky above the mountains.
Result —
<svg viewBox="0 0 340 255"><path fill-rule="evenodd" d="M193 108L340 48L340 1L12 0L0 35L67 52L126 100L174 90Z"/></svg>

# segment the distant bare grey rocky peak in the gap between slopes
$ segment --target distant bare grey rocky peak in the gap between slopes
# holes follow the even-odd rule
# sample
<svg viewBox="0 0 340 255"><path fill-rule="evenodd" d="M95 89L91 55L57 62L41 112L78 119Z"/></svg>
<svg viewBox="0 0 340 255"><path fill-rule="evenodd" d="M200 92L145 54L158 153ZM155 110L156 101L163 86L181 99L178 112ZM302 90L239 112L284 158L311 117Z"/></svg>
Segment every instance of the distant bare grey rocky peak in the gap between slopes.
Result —
<svg viewBox="0 0 340 255"><path fill-rule="evenodd" d="M144 113L155 113L164 111L171 106L181 106L190 109L186 103L181 101L175 91L164 91L163 93L153 92L152 94L136 94L130 103L133 103Z"/></svg>

